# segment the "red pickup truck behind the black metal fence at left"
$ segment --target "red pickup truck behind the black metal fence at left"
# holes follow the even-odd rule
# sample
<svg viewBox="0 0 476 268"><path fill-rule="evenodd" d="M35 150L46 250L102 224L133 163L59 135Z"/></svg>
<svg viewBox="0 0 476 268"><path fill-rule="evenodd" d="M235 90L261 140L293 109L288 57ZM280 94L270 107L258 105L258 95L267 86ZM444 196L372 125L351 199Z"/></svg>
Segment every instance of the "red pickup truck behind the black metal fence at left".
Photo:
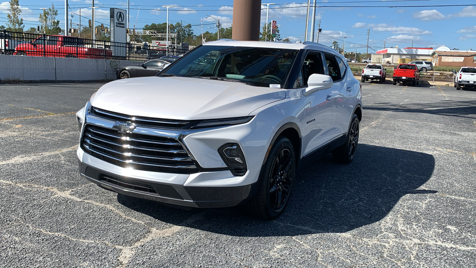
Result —
<svg viewBox="0 0 476 268"><path fill-rule="evenodd" d="M14 55L102 59L112 56L112 51L86 47L84 41L77 37L49 35L16 46Z"/></svg>

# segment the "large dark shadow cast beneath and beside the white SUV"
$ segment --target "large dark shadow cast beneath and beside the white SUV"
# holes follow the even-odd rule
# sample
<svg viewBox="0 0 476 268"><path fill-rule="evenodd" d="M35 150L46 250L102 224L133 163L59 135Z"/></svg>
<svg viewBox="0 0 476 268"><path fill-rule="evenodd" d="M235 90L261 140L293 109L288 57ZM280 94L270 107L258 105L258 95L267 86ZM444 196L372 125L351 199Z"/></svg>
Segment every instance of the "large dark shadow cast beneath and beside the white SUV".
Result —
<svg viewBox="0 0 476 268"><path fill-rule="evenodd" d="M359 144L349 165L310 155L299 163L286 211L272 221L250 216L244 206L185 211L124 195L118 201L166 223L229 236L347 232L381 220L405 195L436 193L418 189L434 167L432 155L368 144Z"/></svg>

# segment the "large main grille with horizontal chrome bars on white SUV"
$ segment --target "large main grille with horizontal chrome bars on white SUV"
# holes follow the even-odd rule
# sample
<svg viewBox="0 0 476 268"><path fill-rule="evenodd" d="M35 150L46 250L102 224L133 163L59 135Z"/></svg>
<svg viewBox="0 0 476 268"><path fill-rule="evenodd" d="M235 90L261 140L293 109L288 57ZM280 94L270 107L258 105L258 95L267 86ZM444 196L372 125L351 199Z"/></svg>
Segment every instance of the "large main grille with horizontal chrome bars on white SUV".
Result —
<svg viewBox="0 0 476 268"><path fill-rule="evenodd" d="M89 155L122 167L182 174L198 172L195 162L174 138L122 134L114 129L86 124L81 148Z"/></svg>

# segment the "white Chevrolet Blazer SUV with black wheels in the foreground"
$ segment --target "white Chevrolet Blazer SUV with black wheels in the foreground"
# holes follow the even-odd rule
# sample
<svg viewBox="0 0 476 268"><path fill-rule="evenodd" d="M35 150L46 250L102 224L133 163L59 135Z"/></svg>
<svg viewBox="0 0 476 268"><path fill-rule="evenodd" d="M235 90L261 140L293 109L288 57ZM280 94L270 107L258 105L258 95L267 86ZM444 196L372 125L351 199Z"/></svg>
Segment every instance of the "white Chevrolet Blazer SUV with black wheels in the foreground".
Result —
<svg viewBox="0 0 476 268"><path fill-rule="evenodd" d="M355 155L361 85L313 42L207 42L157 76L103 85L77 113L79 171L129 196L285 209L300 158Z"/></svg>

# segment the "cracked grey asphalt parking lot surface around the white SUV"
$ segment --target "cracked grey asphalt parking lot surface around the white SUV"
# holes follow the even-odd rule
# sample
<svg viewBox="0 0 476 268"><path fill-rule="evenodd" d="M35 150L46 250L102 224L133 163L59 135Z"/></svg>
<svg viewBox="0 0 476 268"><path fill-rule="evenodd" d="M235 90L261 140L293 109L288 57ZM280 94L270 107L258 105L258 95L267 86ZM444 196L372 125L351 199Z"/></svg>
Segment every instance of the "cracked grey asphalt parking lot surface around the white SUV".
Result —
<svg viewBox="0 0 476 268"><path fill-rule="evenodd" d="M99 86L0 84L0 267L475 267L475 91L364 83L354 162L303 159L261 221L82 179L74 113Z"/></svg>

